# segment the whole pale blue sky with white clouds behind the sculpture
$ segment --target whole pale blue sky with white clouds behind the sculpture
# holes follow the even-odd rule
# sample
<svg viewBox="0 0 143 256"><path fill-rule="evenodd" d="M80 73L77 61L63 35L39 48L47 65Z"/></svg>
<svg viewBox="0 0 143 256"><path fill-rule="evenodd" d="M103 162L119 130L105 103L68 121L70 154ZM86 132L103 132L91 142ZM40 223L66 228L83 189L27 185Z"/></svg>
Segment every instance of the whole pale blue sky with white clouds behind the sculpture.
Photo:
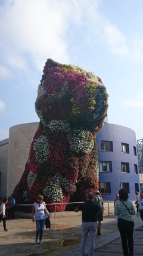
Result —
<svg viewBox="0 0 143 256"><path fill-rule="evenodd" d="M101 77L108 122L143 138L142 0L0 0L0 140L14 125L39 122L48 58Z"/></svg>

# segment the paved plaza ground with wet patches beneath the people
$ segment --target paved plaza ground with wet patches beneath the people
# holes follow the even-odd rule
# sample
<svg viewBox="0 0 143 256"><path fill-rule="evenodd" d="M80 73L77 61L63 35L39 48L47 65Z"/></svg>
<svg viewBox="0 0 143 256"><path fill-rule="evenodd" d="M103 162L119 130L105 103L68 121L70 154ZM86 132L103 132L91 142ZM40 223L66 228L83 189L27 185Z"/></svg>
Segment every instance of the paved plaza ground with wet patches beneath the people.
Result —
<svg viewBox="0 0 143 256"><path fill-rule="evenodd" d="M143 252L143 223L139 215L133 216L135 221L134 255ZM70 216L51 218L51 229L43 231L43 245L35 244L35 224L32 219L7 221L8 232L4 232L0 224L1 256L80 256L81 217ZM86 246L88 255L89 241ZM121 256L122 245L117 229L115 216L104 216L101 236L95 237L95 256Z"/></svg>

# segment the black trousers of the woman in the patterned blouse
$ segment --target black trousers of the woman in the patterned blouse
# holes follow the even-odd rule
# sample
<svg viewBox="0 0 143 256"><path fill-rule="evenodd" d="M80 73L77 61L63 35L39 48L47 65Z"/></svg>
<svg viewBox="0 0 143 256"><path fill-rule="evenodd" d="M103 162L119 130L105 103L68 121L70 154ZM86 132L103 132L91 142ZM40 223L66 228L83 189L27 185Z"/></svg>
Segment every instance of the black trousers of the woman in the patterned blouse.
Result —
<svg viewBox="0 0 143 256"><path fill-rule="evenodd" d="M119 218L118 229L122 240L123 255L133 255L133 222Z"/></svg>

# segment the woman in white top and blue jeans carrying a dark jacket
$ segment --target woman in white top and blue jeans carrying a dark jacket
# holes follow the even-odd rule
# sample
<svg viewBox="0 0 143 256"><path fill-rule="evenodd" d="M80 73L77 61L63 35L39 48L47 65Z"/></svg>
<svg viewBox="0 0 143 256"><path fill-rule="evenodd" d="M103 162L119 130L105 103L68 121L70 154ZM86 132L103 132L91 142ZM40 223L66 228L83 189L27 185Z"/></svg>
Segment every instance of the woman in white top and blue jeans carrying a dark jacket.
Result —
<svg viewBox="0 0 143 256"><path fill-rule="evenodd" d="M35 243L38 243L38 236L39 236L39 243L40 245L43 244L42 237L43 237L43 227L45 224L45 219L47 215L49 215L48 210L46 209L45 202L43 200L43 195L37 195L36 202L33 204L32 209L32 221L36 221L36 238Z"/></svg>

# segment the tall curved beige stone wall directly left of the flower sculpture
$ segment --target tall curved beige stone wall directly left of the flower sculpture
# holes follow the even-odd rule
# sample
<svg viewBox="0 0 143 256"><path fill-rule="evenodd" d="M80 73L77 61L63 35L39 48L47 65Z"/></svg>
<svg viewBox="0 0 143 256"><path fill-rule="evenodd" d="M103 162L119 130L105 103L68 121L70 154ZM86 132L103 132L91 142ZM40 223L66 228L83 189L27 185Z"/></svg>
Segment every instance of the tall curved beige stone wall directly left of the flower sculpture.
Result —
<svg viewBox="0 0 143 256"><path fill-rule="evenodd" d="M39 123L15 125L10 128L8 145L7 195L11 195L20 180Z"/></svg>

